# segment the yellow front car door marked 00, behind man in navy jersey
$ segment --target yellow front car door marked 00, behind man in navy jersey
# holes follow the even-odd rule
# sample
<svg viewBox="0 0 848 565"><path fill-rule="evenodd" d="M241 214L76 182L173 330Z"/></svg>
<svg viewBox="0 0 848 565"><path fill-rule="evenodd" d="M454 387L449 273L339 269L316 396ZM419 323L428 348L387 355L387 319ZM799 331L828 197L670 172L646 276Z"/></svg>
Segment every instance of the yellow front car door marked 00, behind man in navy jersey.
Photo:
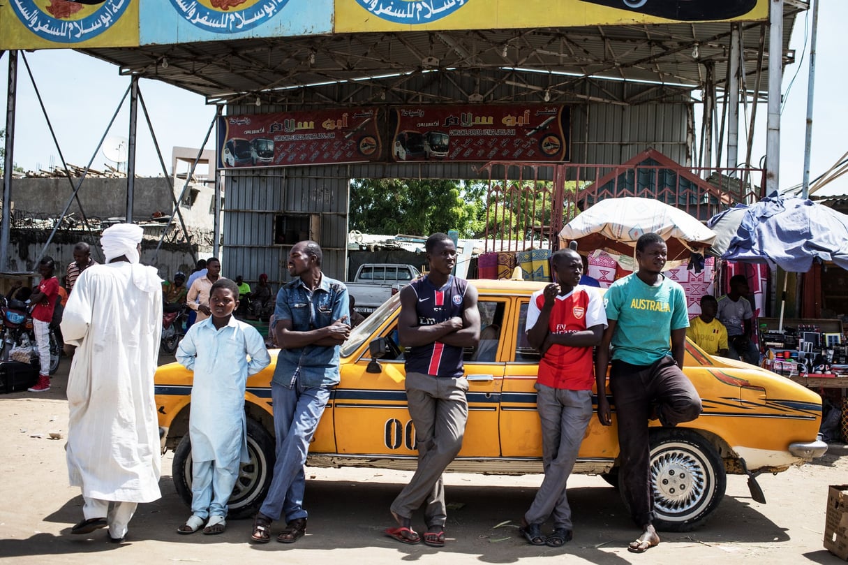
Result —
<svg viewBox="0 0 848 565"><path fill-rule="evenodd" d="M488 312L490 326L499 330L497 316L503 317L504 299L481 300ZM335 389L333 421L338 453L364 456L416 456L415 427L409 415L404 389L404 356L398 344L397 314L371 335L388 338L392 352L378 361L379 372L368 372L371 355L367 348L360 358L342 367L342 383ZM505 362L499 358L509 352L502 343L502 332L494 334L485 351L466 350L468 378L468 423L460 457L499 456L499 391ZM377 366L371 365L374 370Z"/></svg>

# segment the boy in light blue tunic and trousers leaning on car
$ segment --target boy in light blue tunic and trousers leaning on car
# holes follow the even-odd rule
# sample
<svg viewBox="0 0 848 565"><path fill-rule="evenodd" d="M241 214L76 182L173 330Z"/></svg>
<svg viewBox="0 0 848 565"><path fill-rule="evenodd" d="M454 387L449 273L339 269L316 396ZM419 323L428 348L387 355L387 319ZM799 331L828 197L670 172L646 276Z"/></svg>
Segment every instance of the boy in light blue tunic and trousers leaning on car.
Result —
<svg viewBox="0 0 848 565"><path fill-rule="evenodd" d="M212 316L189 328L176 360L194 371L192 411L192 516L176 531L204 534L226 529L226 502L240 463L248 462L244 390L248 376L271 363L265 340L253 326L232 316L238 287L227 278L209 292Z"/></svg>

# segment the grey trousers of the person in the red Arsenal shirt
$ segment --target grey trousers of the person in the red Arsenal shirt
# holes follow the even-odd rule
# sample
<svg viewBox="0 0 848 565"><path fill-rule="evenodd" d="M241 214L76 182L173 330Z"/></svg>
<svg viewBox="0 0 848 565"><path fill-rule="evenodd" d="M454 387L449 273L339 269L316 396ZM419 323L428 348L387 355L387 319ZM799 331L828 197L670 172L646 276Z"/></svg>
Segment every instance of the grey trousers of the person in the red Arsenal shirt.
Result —
<svg viewBox="0 0 848 565"><path fill-rule="evenodd" d="M544 479L524 514L527 523L553 517L554 528L572 529L566 481L572 473L583 435L592 417L592 391L552 389L536 384L536 406L542 422Z"/></svg>

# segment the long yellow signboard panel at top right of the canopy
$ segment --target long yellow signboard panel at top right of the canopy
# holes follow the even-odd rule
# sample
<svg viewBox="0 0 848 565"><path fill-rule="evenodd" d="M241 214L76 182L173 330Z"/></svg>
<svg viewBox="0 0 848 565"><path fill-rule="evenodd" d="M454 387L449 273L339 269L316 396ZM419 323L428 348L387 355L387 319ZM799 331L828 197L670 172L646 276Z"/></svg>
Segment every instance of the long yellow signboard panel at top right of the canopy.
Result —
<svg viewBox="0 0 848 565"><path fill-rule="evenodd" d="M765 20L768 0L335 0L338 33Z"/></svg>

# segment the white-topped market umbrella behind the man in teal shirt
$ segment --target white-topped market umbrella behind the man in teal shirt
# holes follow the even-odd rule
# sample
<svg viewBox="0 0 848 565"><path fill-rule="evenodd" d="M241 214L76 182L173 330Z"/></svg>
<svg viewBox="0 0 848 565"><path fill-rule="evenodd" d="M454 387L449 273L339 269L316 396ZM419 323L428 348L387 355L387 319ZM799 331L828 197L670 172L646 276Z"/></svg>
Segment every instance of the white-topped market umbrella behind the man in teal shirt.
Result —
<svg viewBox="0 0 848 565"><path fill-rule="evenodd" d="M653 199L634 196L603 199L569 221L560 232L560 249L577 241L578 249L603 249L611 255L633 257L644 233L658 233L668 245L668 260L703 253L716 234L683 210Z"/></svg>

